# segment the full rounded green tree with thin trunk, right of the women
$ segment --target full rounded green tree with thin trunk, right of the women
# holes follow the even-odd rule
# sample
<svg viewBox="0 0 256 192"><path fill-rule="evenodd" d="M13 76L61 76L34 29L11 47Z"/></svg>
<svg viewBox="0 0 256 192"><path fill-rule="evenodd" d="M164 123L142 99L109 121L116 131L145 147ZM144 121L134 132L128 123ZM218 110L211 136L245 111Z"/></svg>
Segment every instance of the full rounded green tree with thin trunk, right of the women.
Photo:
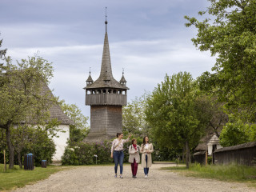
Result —
<svg viewBox="0 0 256 192"><path fill-rule="evenodd" d="M159 146L186 149L189 166L190 149L205 133L195 111L196 84L189 73L165 77L146 101L146 121L150 123Z"/></svg>

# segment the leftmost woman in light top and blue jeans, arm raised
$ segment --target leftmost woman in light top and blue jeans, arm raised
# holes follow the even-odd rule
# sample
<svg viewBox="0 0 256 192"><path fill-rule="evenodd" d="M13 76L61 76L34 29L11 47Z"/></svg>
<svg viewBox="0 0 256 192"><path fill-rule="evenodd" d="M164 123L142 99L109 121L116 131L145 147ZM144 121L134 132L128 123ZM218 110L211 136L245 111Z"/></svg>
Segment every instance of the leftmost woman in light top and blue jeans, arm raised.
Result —
<svg viewBox="0 0 256 192"><path fill-rule="evenodd" d="M117 138L114 139L112 142L112 147L111 147L111 158L114 158L114 177L117 178L117 173L118 173L118 164L120 166L120 178L122 178L122 162L124 158L123 154L123 143L129 142L129 137L125 140L122 139L123 134L122 133L117 133Z"/></svg>

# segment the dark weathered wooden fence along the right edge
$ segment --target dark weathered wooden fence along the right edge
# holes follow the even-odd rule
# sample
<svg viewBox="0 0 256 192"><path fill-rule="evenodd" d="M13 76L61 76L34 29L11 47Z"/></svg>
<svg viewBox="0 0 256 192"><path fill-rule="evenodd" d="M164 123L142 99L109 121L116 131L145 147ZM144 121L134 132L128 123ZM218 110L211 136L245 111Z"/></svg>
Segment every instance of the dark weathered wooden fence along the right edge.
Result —
<svg viewBox="0 0 256 192"><path fill-rule="evenodd" d="M237 163L245 166L256 165L256 142L224 147L214 151L215 164Z"/></svg>

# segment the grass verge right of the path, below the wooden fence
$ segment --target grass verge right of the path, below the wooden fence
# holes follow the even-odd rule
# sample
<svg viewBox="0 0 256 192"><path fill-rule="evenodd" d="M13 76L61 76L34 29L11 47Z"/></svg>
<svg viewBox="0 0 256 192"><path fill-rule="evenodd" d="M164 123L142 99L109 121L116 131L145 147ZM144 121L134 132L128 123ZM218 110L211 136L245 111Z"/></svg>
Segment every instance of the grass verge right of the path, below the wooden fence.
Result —
<svg viewBox="0 0 256 192"><path fill-rule="evenodd" d="M238 165L208 165L191 164L186 166L162 167L162 170L173 170L179 174L198 178L214 178L226 182L243 182L247 186L256 187L256 167Z"/></svg>

